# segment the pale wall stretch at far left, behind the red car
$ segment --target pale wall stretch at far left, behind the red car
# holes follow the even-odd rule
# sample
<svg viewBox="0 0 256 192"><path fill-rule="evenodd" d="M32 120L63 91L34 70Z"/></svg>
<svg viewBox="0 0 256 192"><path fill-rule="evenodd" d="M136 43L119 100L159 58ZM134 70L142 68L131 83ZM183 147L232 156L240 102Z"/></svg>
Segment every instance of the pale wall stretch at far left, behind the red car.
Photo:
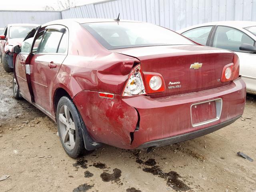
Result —
<svg viewBox="0 0 256 192"><path fill-rule="evenodd" d="M0 27L5 27L7 24L11 23L44 24L57 19L62 19L61 12L0 10Z"/></svg>

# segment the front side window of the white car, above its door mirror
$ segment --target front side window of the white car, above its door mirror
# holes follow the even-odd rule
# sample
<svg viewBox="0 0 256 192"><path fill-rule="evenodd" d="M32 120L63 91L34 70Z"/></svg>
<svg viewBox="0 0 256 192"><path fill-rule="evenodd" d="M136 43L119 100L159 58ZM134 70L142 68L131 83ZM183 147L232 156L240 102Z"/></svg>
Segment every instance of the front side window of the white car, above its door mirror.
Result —
<svg viewBox="0 0 256 192"><path fill-rule="evenodd" d="M218 26L213 46L217 48L240 51L241 44L251 44L254 46L254 40L245 33L230 27Z"/></svg>

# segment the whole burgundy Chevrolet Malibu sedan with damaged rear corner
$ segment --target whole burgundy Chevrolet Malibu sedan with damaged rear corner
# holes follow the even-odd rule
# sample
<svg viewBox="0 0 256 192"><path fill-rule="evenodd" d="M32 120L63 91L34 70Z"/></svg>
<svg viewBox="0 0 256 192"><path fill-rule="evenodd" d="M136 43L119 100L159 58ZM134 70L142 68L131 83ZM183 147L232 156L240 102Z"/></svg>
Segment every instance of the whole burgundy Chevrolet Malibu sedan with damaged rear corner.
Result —
<svg viewBox="0 0 256 192"><path fill-rule="evenodd" d="M238 56L160 26L57 20L14 52L14 97L57 123L73 158L103 143L150 150L196 138L244 111Z"/></svg>

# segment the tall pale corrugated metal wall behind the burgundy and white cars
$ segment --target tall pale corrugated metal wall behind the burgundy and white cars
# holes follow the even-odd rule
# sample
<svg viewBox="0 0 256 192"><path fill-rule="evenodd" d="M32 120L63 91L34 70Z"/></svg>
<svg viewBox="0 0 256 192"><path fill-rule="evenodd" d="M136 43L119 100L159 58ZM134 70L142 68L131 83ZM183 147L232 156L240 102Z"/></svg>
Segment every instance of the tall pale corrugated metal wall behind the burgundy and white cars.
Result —
<svg viewBox="0 0 256 192"><path fill-rule="evenodd" d="M172 30L222 20L256 21L256 0L112 0L62 11L62 18L116 18Z"/></svg>

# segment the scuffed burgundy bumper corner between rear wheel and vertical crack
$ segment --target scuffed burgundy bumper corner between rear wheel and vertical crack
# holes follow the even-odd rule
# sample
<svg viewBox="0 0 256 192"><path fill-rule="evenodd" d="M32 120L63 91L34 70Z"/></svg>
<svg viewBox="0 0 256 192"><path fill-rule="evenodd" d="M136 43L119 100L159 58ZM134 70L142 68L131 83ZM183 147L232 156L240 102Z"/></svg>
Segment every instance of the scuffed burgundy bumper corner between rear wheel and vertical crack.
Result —
<svg viewBox="0 0 256 192"><path fill-rule="evenodd" d="M110 99L99 97L98 92L82 91L73 101L95 141L130 148L130 132L136 128L138 113L120 95Z"/></svg>

